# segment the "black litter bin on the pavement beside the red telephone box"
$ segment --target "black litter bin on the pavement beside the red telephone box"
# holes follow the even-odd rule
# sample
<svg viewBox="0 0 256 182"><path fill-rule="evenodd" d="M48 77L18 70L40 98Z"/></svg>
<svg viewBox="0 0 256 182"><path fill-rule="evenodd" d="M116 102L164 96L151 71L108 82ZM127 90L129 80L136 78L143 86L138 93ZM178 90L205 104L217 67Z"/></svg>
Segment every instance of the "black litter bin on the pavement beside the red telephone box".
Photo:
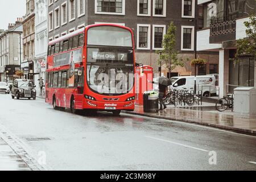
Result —
<svg viewBox="0 0 256 182"><path fill-rule="evenodd" d="M143 93L143 110L146 113L158 113L158 92L148 91Z"/></svg>

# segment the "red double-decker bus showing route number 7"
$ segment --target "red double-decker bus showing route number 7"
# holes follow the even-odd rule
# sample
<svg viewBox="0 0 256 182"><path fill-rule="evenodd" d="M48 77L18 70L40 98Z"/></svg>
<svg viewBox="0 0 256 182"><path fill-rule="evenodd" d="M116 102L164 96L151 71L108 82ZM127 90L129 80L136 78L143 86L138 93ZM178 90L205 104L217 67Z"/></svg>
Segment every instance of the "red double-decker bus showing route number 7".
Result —
<svg viewBox="0 0 256 182"><path fill-rule="evenodd" d="M48 44L46 102L56 110L134 110L134 34L93 24Z"/></svg>

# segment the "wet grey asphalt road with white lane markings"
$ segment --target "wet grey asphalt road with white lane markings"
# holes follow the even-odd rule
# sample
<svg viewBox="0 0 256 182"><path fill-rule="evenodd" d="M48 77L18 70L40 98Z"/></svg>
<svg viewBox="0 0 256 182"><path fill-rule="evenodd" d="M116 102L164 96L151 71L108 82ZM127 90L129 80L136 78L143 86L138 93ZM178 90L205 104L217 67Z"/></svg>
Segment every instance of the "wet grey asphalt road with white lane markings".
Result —
<svg viewBox="0 0 256 182"><path fill-rule="evenodd" d="M75 115L53 110L40 98L11 100L0 94L1 126L35 159L40 161L43 151L42 165L53 170L256 169L256 137L183 122Z"/></svg>

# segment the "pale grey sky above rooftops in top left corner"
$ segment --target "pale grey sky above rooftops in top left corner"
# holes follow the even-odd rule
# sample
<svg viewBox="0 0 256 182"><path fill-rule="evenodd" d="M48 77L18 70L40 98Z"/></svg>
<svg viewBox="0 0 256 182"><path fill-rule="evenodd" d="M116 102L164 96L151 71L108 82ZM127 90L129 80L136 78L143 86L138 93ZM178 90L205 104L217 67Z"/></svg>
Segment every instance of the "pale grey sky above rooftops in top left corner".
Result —
<svg viewBox="0 0 256 182"><path fill-rule="evenodd" d="M8 23L26 14L26 0L0 0L0 29L7 29Z"/></svg>

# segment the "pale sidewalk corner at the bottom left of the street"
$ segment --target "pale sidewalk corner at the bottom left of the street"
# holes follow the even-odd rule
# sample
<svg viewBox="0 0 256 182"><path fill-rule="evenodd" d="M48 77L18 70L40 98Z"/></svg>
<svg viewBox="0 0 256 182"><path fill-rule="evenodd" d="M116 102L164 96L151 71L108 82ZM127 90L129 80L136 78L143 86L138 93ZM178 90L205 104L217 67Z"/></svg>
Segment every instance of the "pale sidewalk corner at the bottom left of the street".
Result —
<svg viewBox="0 0 256 182"><path fill-rule="evenodd" d="M0 171L31 171L27 163L1 137Z"/></svg>

